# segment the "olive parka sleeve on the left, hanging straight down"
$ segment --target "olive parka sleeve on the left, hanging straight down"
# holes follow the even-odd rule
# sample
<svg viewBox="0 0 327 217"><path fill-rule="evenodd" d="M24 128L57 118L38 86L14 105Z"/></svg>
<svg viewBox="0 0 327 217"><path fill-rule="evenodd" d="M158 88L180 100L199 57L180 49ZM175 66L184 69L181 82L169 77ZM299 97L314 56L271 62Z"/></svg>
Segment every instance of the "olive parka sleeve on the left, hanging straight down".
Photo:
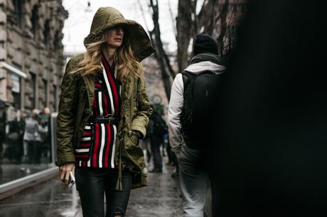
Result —
<svg viewBox="0 0 327 217"><path fill-rule="evenodd" d="M77 106L77 79L69 72L73 69L71 60L68 62L63 82L57 118L57 162L61 166L68 162L75 162L73 150L75 111Z"/></svg>

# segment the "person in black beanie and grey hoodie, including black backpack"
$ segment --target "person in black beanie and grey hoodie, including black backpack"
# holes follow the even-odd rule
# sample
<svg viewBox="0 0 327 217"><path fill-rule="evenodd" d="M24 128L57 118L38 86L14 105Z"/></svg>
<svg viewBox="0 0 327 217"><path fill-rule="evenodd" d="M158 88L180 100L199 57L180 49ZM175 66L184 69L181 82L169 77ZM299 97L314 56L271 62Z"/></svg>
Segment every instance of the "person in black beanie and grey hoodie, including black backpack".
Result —
<svg viewBox="0 0 327 217"><path fill-rule="evenodd" d="M225 63L210 35L200 34L193 44L191 65L176 75L168 106L171 150L179 162L179 182L186 217L202 217L208 187L205 165L210 120L215 111L216 87Z"/></svg>

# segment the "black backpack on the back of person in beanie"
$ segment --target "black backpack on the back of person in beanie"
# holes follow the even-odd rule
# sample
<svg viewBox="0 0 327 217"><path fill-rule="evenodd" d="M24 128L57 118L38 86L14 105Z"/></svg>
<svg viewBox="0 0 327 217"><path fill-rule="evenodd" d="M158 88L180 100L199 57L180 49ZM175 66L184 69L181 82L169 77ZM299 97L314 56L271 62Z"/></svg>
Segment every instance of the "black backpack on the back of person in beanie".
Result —
<svg viewBox="0 0 327 217"><path fill-rule="evenodd" d="M183 76L183 110L181 113L181 133L190 148L205 148L207 138L212 133L215 111L217 110L220 74L205 71L201 74L181 72Z"/></svg>

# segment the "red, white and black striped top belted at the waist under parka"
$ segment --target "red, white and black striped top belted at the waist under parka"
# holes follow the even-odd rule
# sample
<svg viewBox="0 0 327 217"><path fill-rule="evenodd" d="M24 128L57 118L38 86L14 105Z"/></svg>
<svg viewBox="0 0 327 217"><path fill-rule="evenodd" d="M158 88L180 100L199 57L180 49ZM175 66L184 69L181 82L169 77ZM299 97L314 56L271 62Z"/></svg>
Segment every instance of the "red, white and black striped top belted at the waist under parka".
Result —
<svg viewBox="0 0 327 217"><path fill-rule="evenodd" d="M114 63L110 67L102 55L103 72L95 79L95 96L92 116L119 116L120 87L114 75ZM75 149L77 167L115 168L114 150L117 126L109 123L87 123Z"/></svg>

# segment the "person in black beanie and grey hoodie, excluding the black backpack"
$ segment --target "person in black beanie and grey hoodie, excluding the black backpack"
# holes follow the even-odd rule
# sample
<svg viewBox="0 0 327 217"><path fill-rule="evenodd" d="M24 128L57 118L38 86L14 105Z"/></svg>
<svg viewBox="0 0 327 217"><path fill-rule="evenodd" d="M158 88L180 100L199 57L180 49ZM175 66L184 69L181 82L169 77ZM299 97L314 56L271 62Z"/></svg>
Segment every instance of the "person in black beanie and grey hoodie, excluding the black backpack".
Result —
<svg viewBox="0 0 327 217"><path fill-rule="evenodd" d="M193 55L191 64L184 71L195 75L208 71L221 74L225 71L225 63L218 57L217 43L210 35L196 36ZM169 142L171 150L176 153L179 161L179 182L183 196L184 216L202 217L208 188L208 172L199 162L205 160L205 150L191 148L183 140L181 132L181 114L183 104L185 104L183 92L183 75L179 73L173 81L168 106Z"/></svg>

